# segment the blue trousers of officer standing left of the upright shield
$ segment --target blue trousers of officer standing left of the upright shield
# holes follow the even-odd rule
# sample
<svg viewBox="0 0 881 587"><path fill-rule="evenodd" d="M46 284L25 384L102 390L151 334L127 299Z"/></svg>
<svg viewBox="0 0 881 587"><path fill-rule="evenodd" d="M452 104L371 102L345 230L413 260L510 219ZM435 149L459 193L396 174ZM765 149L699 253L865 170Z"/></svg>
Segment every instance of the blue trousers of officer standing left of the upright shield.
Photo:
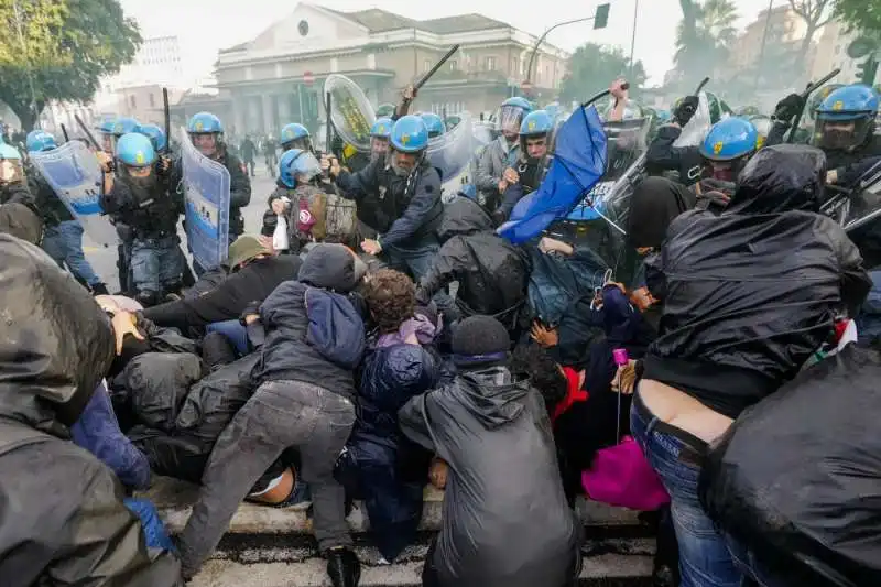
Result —
<svg viewBox="0 0 881 587"><path fill-rule="evenodd" d="M138 294L166 294L181 289L184 272L177 235L135 238L131 244L132 286Z"/></svg>

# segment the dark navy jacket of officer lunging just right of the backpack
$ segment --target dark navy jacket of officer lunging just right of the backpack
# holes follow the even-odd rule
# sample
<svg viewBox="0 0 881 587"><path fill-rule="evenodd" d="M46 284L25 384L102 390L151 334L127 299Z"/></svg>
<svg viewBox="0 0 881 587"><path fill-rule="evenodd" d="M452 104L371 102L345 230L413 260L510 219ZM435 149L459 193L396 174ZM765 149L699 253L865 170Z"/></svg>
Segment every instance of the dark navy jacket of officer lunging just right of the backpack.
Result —
<svg viewBox="0 0 881 587"><path fill-rule="evenodd" d="M383 247L437 242L444 217L440 176L427 161L403 177L380 159L358 173L341 172L336 183L344 197L357 203L358 218L382 235Z"/></svg>

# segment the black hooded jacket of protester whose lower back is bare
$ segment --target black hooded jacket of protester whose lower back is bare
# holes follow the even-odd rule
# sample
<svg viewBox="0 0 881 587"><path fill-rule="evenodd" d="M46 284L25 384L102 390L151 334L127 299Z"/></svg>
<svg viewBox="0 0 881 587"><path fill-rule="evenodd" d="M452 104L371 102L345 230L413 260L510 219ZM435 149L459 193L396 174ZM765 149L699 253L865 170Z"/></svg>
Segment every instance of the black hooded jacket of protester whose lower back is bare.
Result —
<svg viewBox="0 0 881 587"><path fill-rule="evenodd" d="M836 317L856 315L871 282L844 230L814 211L825 176L818 149L765 148L721 215L673 221L646 269L663 315L644 378L733 418L792 379Z"/></svg>

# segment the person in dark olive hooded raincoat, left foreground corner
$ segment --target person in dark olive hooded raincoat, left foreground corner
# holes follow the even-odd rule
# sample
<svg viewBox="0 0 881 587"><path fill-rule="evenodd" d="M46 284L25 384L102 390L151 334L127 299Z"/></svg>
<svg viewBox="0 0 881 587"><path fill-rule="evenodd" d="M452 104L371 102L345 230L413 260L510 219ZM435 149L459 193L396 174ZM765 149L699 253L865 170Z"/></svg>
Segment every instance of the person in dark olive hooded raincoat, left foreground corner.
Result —
<svg viewBox="0 0 881 587"><path fill-rule="evenodd" d="M107 316L36 247L0 235L0 257L3 585L182 585L110 469L68 442L113 358Z"/></svg>

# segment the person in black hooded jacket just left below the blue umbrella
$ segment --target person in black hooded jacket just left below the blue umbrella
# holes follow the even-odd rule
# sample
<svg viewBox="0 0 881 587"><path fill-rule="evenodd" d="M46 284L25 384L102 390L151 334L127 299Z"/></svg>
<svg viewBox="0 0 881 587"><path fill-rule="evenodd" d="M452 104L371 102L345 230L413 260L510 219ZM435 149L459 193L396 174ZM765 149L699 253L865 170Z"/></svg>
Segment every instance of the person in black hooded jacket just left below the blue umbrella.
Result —
<svg viewBox="0 0 881 587"><path fill-rule="evenodd" d="M496 235L492 220L479 204L461 196L446 207L437 236L444 244L420 282L417 300L427 303L458 281L456 306L463 318L496 316L512 329L518 309L526 301L526 254Z"/></svg>

